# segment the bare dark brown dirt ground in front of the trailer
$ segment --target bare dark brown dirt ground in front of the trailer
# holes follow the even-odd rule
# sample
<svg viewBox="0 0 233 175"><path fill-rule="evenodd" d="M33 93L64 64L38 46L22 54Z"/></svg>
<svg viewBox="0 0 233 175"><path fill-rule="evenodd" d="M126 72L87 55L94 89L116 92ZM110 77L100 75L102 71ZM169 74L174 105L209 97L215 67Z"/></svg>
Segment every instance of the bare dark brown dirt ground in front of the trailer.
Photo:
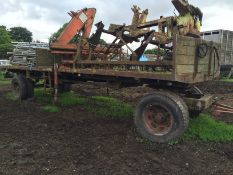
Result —
<svg viewBox="0 0 233 175"><path fill-rule="evenodd" d="M131 119L104 119L78 106L49 114L33 100L7 100L8 90L0 88L0 175L232 175L233 143L149 144ZM130 91L134 101L140 92Z"/></svg>

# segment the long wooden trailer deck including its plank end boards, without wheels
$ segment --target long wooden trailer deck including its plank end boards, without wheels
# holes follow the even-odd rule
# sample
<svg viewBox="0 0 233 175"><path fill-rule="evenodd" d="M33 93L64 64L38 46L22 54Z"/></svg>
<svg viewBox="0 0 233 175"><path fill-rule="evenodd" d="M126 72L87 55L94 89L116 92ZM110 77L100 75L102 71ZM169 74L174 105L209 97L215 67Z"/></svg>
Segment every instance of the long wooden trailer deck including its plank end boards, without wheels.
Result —
<svg viewBox="0 0 233 175"><path fill-rule="evenodd" d="M202 47L199 48L199 46ZM210 81L219 76L218 48L219 45L213 42L177 35L173 41L172 60L161 59L148 62L80 60L74 68L73 60L63 59L59 55L54 56L48 50L38 50L36 67L14 65L5 68L10 72L46 73L53 72L54 63L57 63L60 74L78 74L79 77L103 76L195 84ZM198 54L203 55L200 58Z"/></svg>

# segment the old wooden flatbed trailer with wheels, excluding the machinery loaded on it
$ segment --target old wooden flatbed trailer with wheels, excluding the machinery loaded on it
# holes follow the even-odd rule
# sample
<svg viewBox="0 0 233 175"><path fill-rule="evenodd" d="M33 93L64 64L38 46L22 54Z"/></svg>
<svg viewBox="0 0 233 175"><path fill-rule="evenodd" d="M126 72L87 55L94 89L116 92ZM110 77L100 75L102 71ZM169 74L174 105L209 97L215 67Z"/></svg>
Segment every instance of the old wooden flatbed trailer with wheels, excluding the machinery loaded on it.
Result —
<svg viewBox="0 0 233 175"><path fill-rule="evenodd" d="M117 82L123 87L147 84L155 89L143 97L135 109L135 125L139 133L155 142L180 137L188 126L189 112L202 111L214 103L195 87L198 82L219 76L218 45L201 39L176 35L172 56L154 61L78 60L37 50L36 67L8 66L16 73L12 80L20 99L33 97L35 82L44 80L45 87L57 92L69 90L79 81ZM56 94L56 93L55 93Z"/></svg>

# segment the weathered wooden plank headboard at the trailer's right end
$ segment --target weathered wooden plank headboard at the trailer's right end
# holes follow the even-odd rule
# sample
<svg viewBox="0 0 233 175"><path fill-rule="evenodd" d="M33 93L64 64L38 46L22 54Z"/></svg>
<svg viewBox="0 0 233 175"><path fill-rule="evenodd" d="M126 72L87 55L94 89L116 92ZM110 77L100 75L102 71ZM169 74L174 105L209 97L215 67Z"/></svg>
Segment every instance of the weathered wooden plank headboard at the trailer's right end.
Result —
<svg viewBox="0 0 233 175"><path fill-rule="evenodd" d="M208 52L204 58L199 58L197 47L202 43L207 44ZM176 36L173 44L177 81L197 83L213 80L219 76L219 63L217 63L219 60L213 53L213 47L219 51L219 44L185 36Z"/></svg>

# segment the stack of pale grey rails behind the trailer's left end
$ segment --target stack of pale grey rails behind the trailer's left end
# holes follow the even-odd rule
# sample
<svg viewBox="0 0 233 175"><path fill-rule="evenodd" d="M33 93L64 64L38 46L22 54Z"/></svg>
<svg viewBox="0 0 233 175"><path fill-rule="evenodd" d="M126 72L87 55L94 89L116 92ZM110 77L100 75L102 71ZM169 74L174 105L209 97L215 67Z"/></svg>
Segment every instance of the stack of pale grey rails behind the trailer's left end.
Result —
<svg viewBox="0 0 233 175"><path fill-rule="evenodd" d="M11 55L10 62L12 65L30 66L36 65L36 49L48 49L47 43L28 43L28 42L13 42L13 52L8 54Z"/></svg>

